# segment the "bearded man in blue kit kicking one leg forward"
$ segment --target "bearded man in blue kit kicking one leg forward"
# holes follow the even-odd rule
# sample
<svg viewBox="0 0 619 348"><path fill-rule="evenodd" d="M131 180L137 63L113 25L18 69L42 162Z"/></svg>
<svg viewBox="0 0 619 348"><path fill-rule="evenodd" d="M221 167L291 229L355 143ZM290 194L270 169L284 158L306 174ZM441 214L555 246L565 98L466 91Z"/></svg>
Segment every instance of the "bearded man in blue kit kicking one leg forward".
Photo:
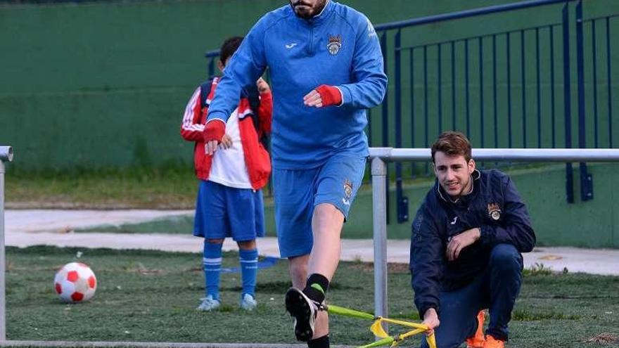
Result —
<svg viewBox="0 0 619 348"><path fill-rule="evenodd" d="M208 112L206 153L217 150L241 90L267 67L276 228L293 283L286 309L298 340L328 347L321 304L369 155L365 109L385 96L383 56L362 13L332 0L290 0L260 18L227 65Z"/></svg>

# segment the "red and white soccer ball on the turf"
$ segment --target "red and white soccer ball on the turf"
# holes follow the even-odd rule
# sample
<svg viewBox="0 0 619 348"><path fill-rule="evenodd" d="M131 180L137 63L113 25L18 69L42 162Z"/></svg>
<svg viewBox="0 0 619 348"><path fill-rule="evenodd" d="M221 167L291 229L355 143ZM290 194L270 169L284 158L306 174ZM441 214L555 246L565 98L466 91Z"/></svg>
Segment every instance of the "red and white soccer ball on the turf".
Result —
<svg viewBox="0 0 619 348"><path fill-rule="evenodd" d="M71 262L65 264L53 278L56 293L64 302L85 302L94 296L96 277L86 264Z"/></svg>

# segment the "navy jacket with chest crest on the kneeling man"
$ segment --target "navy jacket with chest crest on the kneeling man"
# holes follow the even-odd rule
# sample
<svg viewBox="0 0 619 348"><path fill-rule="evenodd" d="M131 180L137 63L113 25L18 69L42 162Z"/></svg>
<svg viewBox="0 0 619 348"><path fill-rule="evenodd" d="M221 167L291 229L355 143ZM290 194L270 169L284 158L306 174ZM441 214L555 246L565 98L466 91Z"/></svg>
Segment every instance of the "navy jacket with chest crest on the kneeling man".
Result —
<svg viewBox="0 0 619 348"><path fill-rule="evenodd" d="M452 236L480 228L481 237L452 262L445 252ZM440 291L457 290L475 278L490 259L492 247L511 244L530 252L535 232L516 186L498 170L473 172L473 191L453 202L436 181L412 224L411 284L419 315L440 308Z"/></svg>

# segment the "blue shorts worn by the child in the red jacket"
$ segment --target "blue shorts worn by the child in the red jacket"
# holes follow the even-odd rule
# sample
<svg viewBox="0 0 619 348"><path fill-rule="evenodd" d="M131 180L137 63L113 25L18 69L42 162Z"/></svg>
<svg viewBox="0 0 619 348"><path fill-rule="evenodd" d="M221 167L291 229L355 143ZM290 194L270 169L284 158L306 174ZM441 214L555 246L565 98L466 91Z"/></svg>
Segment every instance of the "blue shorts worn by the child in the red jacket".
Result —
<svg viewBox="0 0 619 348"><path fill-rule="evenodd" d="M264 237L262 191L200 180L193 236L236 242Z"/></svg>

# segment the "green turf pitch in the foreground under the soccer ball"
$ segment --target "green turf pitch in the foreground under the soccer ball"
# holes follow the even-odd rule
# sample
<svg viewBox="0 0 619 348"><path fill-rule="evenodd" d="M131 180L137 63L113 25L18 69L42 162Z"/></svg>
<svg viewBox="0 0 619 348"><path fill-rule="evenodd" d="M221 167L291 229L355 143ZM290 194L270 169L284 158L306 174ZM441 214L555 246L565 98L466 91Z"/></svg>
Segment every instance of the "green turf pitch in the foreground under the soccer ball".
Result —
<svg viewBox="0 0 619 348"><path fill-rule="evenodd" d="M63 304L53 292L53 276L76 260L95 271L97 293L86 304ZM290 285L285 262L260 271L260 304L248 314L238 309L238 273L222 274L222 310L195 310L204 290L200 254L8 247L6 261L8 340L295 343L282 304ZM224 266L237 264L238 254L224 254ZM372 270L371 264L340 264L330 302L373 311ZM390 316L418 319L407 265L390 264L389 270ZM368 324L333 317L331 340L370 342ZM619 334L619 277L527 270L510 328L509 347L619 347L616 340L587 342L613 341ZM604 333L615 336L600 336ZM418 343L413 339L402 347Z"/></svg>

